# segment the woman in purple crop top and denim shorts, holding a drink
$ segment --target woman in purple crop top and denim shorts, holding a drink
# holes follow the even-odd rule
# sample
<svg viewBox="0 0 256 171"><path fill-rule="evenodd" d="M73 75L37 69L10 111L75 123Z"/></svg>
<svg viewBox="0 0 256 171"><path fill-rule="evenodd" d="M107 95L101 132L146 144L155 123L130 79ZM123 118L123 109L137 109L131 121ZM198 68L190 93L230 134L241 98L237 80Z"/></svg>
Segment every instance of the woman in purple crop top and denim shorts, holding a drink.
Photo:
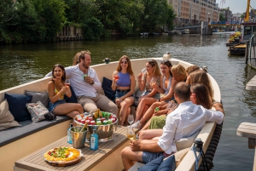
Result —
<svg viewBox="0 0 256 171"><path fill-rule="evenodd" d="M116 90L115 103L119 106L120 125L124 125L126 117L131 113L131 105L134 103L135 77L131 69L131 61L123 55L119 59L116 71L113 71L113 83L111 88Z"/></svg>

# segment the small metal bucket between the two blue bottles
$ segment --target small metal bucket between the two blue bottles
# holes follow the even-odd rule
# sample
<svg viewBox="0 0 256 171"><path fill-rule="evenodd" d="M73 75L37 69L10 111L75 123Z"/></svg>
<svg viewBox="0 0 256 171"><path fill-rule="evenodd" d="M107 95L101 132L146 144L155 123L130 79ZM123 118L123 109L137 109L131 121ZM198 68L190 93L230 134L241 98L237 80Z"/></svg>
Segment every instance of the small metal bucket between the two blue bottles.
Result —
<svg viewBox="0 0 256 171"><path fill-rule="evenodd" d="M72 144L74 148L84 147L87 132L87 128L83 127L73 127L70 129L70 134L72 136Z"/></svg>

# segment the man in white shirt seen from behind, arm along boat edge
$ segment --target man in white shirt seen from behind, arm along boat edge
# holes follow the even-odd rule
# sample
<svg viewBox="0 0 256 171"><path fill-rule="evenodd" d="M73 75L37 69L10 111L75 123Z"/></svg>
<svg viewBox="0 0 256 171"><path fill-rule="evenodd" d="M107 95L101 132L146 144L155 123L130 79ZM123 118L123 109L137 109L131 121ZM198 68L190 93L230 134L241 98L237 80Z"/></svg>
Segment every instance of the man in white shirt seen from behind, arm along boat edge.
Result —
<svg viewBox="0 0 256 171"><path fill-rule="evenodd" d="M150 162L160 155L171 155L176 152L174 141L187 138L200 130L206 122L222 123L224 110L220 103L214 104L216 111L207 110L201 105L190 101L190 87L188 83L177 83L174 97L179 104L172 115L166 117L166 126L159 140L133 140L130 146L121 151L125 170L134 164L133 161Z"/></svg>

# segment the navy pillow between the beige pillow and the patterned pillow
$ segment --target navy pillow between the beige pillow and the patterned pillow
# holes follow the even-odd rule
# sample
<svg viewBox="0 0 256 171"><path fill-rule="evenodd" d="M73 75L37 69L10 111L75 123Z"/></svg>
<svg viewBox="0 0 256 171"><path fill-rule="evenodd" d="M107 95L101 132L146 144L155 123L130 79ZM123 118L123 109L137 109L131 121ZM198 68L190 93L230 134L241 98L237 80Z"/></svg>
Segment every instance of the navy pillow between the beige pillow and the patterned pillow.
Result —
<svg viewBox="0 0 256 171"><path fill-rule="evenodd" d="M26 103L31 103L32 95L4 94L4 99L8 101L9 111L15 117L15 121L31 120L31 115L26 109Z"/></svg>

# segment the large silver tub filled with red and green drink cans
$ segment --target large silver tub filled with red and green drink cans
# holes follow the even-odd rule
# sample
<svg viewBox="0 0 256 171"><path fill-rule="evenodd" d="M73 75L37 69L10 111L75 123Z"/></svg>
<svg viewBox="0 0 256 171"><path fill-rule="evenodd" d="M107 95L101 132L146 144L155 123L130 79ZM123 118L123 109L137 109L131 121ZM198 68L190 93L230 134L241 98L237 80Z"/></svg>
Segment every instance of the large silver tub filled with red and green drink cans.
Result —
<svg viewBox="0 0 256 171"><path fill-rule="evenodd" d="M86 135L86 141L90 139L90 134L93 133L93 129L96 129L96 133L99 136L99 142L107 142L113 140L113 129L117 129L118 118L107 111L90 111L90 113L84 112L73 118L76 126L84 126L87 123L88 132Z"/></svg>

